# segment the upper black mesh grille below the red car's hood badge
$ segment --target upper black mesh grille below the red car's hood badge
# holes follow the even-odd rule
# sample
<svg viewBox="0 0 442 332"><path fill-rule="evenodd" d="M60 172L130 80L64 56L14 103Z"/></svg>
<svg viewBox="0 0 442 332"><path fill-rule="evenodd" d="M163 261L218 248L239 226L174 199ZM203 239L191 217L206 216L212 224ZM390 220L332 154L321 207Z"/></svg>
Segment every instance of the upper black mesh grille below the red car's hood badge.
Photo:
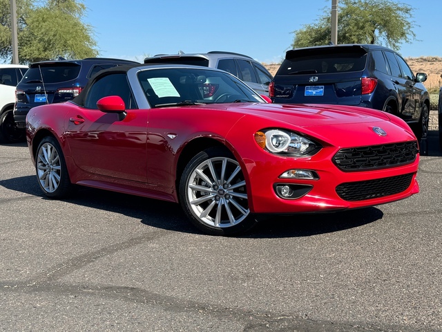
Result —
<svg viewBox="0 0 442 332"><path fill-rule="evenodd" d="M340 149L333 161L344 172L367 171L412 163L419 149L417 142Z"/></svg>

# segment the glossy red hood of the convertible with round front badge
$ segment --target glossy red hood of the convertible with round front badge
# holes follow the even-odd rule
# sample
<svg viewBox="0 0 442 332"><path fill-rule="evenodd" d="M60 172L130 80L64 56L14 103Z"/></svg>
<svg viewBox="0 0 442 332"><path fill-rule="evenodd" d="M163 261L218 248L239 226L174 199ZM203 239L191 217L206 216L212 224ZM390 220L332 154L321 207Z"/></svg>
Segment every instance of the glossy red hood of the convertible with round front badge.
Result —
<svg viewBox="0 0 442 332"><path fill-rule="evenodd" d="M340 147L416 139L403 120L382 111L363 107L325 104L242 104L238 109L238 104L235 104L233 109L232 106L229 104L227 110L256 116L262 120L260 125L282 125L294 130L298 127L302 133ZM244 116L236 125L244 126L244 121L249 122L249 116ZM375 127L380 127L387 135L380 136Z"/></svg>

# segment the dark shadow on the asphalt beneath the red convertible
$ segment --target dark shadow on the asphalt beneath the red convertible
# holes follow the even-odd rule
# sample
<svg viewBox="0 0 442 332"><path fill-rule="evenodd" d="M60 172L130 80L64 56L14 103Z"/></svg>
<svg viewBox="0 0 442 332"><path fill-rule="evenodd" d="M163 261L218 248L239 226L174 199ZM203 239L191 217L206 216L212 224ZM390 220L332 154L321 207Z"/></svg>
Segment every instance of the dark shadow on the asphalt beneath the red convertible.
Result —
<svg viewBox="0 0 442 332"><path fill-rule="evenodd" d="M21 176L0 181L0 186L8 190L22 192L51 201L41 193L35 176ZM146 199L140 196L108 192L88 187L79 187L68 199L68 203L87 208L105 210L140 219L144 225L175 232L202 234L186 219L179 204ZM315 234L337 232L356 228L382 219L383 212L377 208L349 210L334 213L296 214L293 216L272 216L262 220L256 228L240 237L308 237Z"/></svg>

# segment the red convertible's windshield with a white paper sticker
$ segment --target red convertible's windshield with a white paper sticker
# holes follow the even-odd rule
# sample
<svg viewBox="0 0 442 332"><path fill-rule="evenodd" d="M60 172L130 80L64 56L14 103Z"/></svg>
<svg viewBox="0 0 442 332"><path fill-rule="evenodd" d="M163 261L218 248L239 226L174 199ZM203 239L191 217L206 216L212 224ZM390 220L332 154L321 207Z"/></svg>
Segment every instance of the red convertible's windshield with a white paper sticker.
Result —
<svg viewBox="0 0 442 332"><path fill-rule="evenodd" d="M138 80L152 107L264 102L233 75L204 68L150 69L141 71Z"/></svg>

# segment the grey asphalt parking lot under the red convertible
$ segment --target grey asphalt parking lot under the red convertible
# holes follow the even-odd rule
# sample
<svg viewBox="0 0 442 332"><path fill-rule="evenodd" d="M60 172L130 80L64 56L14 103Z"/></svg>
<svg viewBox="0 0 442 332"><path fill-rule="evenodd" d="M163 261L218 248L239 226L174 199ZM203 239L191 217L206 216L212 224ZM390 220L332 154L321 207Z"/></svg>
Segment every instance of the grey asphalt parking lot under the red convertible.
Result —
<svg viewBox="0 0 442 332"><path fill-rule="evenodd" d="M442 158L387 205L195 231L172 203L52 201L0 145L0 331L442 331Z"/></svg>

